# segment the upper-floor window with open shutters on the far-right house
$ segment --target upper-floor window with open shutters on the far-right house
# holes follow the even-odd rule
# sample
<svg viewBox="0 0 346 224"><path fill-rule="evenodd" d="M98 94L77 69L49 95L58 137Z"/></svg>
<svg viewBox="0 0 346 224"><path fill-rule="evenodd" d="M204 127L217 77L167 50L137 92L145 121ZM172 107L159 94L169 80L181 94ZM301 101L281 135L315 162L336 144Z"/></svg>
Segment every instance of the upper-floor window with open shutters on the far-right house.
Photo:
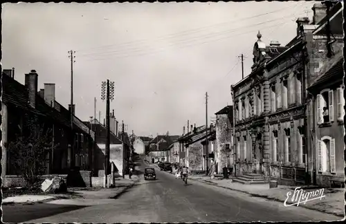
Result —
<svg viewBox="0 0 346 224"><path fill-rule="evenodd" d="M316 97L318 124L334 121L333 91L322 91Z"/></svg>

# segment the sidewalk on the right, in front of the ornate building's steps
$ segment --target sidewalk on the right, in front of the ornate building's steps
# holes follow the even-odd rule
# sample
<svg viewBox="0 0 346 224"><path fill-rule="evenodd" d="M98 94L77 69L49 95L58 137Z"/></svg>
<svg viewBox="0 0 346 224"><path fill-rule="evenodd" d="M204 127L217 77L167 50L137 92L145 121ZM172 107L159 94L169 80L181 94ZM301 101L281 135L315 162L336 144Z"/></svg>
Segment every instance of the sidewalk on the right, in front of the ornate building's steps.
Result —
<svg viewBox="0 0 346 224"><path fill-rule="evenodd" d="M241 183L235 183L231 179L224 180L211 180L208 176L190 176L192 180L197 180L202 183L216 185L226 189L231 189L237 192L243 192L260 198L266 198L268 200L276 200L284 203L288 192L294 192L295 187L279 185L277 188L269 189L269 184L256 184L256 185L243 185ZM307 192L311 190L305 190ZM308 209L318 210L336 216L344 217L345 206L345 189L343 188L327 188L325 189L325 198L322 200L311 200L305 205L302 203L299 206L306 207Z"/></svg>

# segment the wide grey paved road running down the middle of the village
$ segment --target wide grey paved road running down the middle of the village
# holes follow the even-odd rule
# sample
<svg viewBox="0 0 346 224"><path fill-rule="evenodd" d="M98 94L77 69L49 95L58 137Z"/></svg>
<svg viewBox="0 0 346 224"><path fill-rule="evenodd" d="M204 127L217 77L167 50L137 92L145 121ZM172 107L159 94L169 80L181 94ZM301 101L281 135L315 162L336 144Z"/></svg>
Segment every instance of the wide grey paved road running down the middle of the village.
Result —
<svg viewBox="0 0 346 224"><path fill-rule="evenodd" d="M146 165L143 165L146 166ZM140 168L143 168L141 166ZM95 205L30 220L34 223L334 221L340 217L303 207L253 198L239 192L181 179L156 169L158 180L140 180L109 205Z"/></svg>

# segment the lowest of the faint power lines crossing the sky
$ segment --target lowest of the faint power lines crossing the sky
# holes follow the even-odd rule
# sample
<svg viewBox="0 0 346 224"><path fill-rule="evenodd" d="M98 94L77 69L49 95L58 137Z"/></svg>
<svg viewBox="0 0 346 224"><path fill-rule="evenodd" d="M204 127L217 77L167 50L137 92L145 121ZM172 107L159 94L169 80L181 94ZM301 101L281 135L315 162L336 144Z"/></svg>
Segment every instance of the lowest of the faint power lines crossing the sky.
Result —
<svg viewBox="0 0 346 224"><path fill-rule="evenodd" d="M280 24L285 24L286 22L282 22ZM273 26L279 26L280 24L275 24L275 25L272 25L272 26L266 26L266 27L263 27L261 28L261 30L265 30L266 28L271 28ZM254 32L254 31L257 31L258 28L256 28L255 30L249 30L248 32L242 32L242 33L239 33L237 35L230 35L230 36L226 36L226 37L221 37L219 39L212 39L211 41L219 41L219 40L222 40L222 39L228 39L230 37L237 37L239 35L244 35L244 34L247 34L247 33L250 33L250 32ZM197 46L197 45L201 45L201 44L208 44L210 43L210 41L204 41L204 42L201 42L201 43L197 43L197 44L190 44L190 45L185 45L185 46L181 46L179 48L172 48L172 50L174 49L181 49L181 48L186 48L186 47L190 47L190 46ZM153 49L154 50L154 49ZM100 61L100 60L108 60L108 59L113 59L113 58L118 58L118 57L122 57L122 58L126 58L126 57L137 57L137 56L143 56L143 55L150 55L150 54L154 54L154 53L160 53L160 52L163 52L165 51L166 49L165 48L159 48L158 50L154 50L152 52L149 52L149 53L141 53L141 54L135 54L135 55L100 55L100 56L111 56L111 57L105 57L105 58L96 58L96 59L88 59L86 61ZM130 52L131 53L131 52Z"/></svg>

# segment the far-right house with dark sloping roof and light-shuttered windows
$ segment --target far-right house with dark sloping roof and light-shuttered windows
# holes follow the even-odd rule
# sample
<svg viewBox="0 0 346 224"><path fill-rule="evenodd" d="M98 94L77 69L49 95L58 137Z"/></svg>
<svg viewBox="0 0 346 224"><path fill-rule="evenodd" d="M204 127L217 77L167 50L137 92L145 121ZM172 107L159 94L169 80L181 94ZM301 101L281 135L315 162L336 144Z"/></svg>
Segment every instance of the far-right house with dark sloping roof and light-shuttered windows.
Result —
<svg viewBox="0 0 346 224"><path fill-rule="evenodd" d="M343 61L342 52L331 57L308 88L313 108L309 120L316 145L316 184L322 186L329 186L331 178L345 177Z"/></svg>

